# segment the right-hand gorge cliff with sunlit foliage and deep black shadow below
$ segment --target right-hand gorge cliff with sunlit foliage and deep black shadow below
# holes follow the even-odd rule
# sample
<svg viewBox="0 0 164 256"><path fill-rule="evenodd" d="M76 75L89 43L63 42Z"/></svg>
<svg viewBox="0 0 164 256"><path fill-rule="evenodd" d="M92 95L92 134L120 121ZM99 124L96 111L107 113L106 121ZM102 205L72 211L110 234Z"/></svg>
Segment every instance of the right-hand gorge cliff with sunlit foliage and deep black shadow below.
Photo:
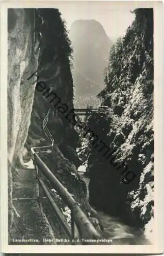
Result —
<svg viewBox="0 0 164 256"><path fill-rule="evenodd" d="M144 227L153 218L153 10L134 12L134 22L110 52L99 94L108 110L89 120L113 152L106 159L102 143L91 145L89 189L91 204Z"/></svg>

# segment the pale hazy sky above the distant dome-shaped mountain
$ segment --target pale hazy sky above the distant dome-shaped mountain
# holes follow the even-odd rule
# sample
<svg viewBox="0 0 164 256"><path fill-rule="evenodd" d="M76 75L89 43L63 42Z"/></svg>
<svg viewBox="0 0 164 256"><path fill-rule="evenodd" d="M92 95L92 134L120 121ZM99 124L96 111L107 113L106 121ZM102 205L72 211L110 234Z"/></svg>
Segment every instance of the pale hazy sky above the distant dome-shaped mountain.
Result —
<svg viewBox="0 0 164 256"><path fill-rule="evenodd" d="M128 3L123 7L119 5L114 7L107 1L61 1L56 2L54 7L59 8L62 17L67 22L68 30L74 20L95 19L101 23L111 39L123 36L135 16L130 13L130 10L133 11L134 8L131 8Z"/></svg>

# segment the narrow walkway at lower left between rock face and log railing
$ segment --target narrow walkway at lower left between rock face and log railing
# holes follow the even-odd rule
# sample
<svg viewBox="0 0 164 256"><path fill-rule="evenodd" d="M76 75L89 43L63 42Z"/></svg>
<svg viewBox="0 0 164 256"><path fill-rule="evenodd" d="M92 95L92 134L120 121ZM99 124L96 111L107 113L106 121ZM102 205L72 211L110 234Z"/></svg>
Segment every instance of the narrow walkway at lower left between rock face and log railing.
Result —
<svg viewBox="0 0 164 256"><path fill-rule="evenodd" d="M20 169L13 178L13 199L30 197L37 197L35 169ZM14 222L10 244L54 244L51 241L53 234L37 199L13 200L13 204L20 218ZM50 242L44 239L50 239Z"/></svg>

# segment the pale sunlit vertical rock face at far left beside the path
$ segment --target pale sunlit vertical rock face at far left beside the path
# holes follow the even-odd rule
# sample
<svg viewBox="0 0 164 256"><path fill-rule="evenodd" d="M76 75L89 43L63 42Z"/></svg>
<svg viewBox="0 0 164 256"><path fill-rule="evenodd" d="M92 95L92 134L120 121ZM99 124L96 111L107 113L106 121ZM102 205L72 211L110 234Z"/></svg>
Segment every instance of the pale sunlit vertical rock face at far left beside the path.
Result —
<svg viewBox="0 0 164 256"><path fill-rule="evenodd" d="M8 10L8 182L9 228L13 218L12 174L20 164L34 100L28 77L38 67L35 11Z"/></svg>

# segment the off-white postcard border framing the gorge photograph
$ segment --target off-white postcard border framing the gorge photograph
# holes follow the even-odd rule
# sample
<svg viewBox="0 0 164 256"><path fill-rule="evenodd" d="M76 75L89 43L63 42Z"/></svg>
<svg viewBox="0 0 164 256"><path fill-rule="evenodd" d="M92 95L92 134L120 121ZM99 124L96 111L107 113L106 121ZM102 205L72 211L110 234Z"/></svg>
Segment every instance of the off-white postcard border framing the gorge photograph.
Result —
<svg viewBox="0 0 164 256"><path fill-rule="evenodd" d="M109 2L110 8L154 8L154 156L155 156L155 226L153 245L8 245L8 185L7 185L7 8L56 7L61 1L1 2L1 243L5 253L162 253L162 2ZM64 2L64 1L62 1ZM71 2L71 1L69 1ZM77 2L77 1L73 1ZM81 1L78 1L80 4ZM93 1L90 1L93 2ZM65 1L68 3L68 1ZM91 4L91 3L90 3ZM93 3L92 3L93 4Z"/></svg>

